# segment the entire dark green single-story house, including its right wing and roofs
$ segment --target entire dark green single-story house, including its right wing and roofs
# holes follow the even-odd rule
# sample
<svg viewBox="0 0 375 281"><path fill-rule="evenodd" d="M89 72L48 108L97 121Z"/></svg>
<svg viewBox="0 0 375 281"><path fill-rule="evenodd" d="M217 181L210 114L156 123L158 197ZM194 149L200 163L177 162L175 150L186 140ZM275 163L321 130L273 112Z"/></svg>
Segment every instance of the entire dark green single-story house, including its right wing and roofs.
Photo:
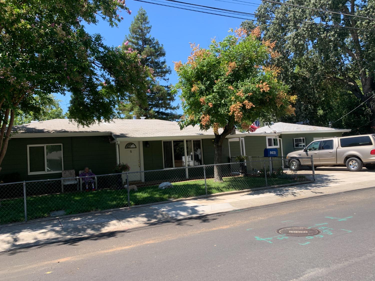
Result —
<svg viewBox="0 0 375 281"><path fill-rule="evenodd" d="M238 155L263 157L265 148L276 148L278 156L283 156L316 138L341 136L348 131L288 123L275 123L253 133L233 130L223 143L222 163L234 161ZM189 126L180 130L177 122L145 118L117 119L90 127L77 126L68 119L32 122L13 128L0 179L11 182L61 178L63 170L74 169L78 175L86 166L96 175L104 175L113 173L117 163L127 163L131 172L167 173L175 167L213 164L213 139L212 129L201 131L199 126ZM180 169L180 176L191 178L191 173L198 174L198 170L202 172ZM157 175L129 174L129 180L163 178L162 172Z"/></svg>

